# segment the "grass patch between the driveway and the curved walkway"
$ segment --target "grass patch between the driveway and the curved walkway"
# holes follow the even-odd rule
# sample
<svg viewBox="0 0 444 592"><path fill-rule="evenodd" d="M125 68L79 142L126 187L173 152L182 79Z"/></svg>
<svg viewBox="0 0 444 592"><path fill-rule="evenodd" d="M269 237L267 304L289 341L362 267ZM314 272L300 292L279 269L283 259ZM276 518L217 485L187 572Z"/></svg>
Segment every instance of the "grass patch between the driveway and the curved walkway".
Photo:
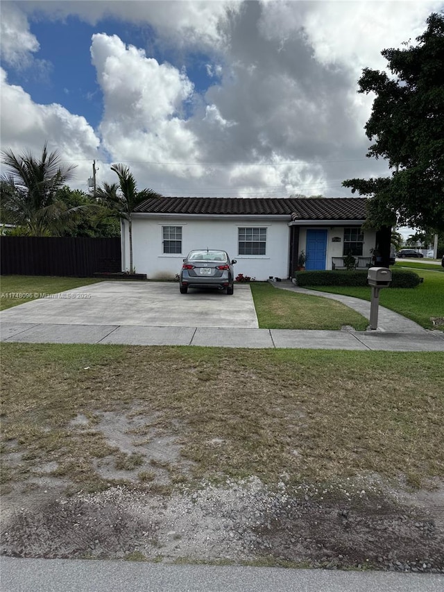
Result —
<svg viewBox="0 0 444 592"><path fill-rule="evenodd" d="M365 330L367 319L329 298L277 289L268 282L250 284L259 327L263 329L339 330L350 325Z"/></svg>

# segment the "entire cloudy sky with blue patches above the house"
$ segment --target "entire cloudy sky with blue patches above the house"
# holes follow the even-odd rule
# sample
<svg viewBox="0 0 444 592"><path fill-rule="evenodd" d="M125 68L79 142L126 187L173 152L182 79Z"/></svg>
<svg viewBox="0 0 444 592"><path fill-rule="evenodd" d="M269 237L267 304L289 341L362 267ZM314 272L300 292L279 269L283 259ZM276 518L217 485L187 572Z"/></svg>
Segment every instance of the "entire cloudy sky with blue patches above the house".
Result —
<svg viewBox="0 0 444 592"><path fill-rule="evenodd" d="M1 147L45 140L72 187L114 181L170 196L348 196L373 102L357 94L380 51L442 0L1 2Z"/></svg>

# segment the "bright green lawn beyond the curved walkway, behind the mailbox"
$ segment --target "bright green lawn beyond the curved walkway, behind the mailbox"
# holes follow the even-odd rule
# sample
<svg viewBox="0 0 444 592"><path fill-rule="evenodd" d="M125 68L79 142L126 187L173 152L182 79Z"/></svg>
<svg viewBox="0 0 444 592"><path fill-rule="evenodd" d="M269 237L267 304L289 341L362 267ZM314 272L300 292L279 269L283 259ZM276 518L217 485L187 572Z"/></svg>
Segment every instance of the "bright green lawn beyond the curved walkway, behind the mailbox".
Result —
<svg viewBox="0 0 444 592"><path fill-rule="evenodd" d="M444 330L444 325L434 325L432 321L444 317L444 273L430 270L431 266L427 264L422 265L422 268L415 269L418 275L424 278L422 284L416 288L384 288L379 292L379 304L406 316L425 329ZM407 269L404 264L396 264L396 267ZM410 264L408 267L411 268ZM370 287L316 286L311 289L355 296L367 301L371 299Z"/></svg>

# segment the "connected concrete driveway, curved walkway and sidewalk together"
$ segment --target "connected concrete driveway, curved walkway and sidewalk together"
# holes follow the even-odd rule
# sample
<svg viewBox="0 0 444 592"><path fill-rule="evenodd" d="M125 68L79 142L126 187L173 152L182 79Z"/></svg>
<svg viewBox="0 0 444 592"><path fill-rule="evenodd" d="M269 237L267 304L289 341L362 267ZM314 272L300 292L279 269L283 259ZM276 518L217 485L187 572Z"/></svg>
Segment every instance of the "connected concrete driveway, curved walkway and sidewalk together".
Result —
<svg viewBox="0 0 444 592"><path fill-rule="evenodd" d="M128 293L128 285L115 286L112 282L108 283L109 286L98 284L87 287L96 296L94 302L78 298L40 301L2 312L0 340L56 344L444 351L443 331L425 330L417 323L384 307L379 307L378 329L375 331L259 329L249 286L241 286L236 298L230 300L213 294L198 294L195 295L196 298L175 301L177 289L173 284L148 287L137 285L131 287ZM296 287L290 281L273 282L273 285L300 294L341 301L366 319L370 318L370 303L359 298L307 290ZM151 291L151 301L149 306L145 305L149 314L145 311L144 316L134 307L140 301L146 302L145 291L148 288ZM83 290L78 288L63 294L78 295ZM114 301L110 300L110 296ZM130 312L126 312L128 298L131 303ZM162 312L159 305L165 299L171 306L166 308L167 312ZM191 315L197 301L200 305L205 303L207 307L207 314L200 326L197 326L197 321L202 320L202 317ZM220 318L220 313L222 305L230 305L230 312L232 303L236 302L241 326L234 327L228 325L227 318L232 319L234 314L234 319L237 320L236 311L233 313L231 310L231 316L224 319ZM179 304L188 306L188 314L181 314ZM207 317L210 317L210 321ZM189 326L185 325L186 322Z"/></svg>

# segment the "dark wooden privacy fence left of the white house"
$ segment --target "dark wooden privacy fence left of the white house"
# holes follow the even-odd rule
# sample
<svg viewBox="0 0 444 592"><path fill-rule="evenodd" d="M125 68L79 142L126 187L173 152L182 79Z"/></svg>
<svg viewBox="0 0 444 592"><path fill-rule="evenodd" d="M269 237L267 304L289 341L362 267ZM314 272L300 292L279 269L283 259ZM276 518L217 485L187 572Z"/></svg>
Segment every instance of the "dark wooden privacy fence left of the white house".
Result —
<svg viewBox="0 0 444 592"><path fill-rule="evenodd" d="M92 277L121 271L119 238L0 237L1 274Z"/></svg>

